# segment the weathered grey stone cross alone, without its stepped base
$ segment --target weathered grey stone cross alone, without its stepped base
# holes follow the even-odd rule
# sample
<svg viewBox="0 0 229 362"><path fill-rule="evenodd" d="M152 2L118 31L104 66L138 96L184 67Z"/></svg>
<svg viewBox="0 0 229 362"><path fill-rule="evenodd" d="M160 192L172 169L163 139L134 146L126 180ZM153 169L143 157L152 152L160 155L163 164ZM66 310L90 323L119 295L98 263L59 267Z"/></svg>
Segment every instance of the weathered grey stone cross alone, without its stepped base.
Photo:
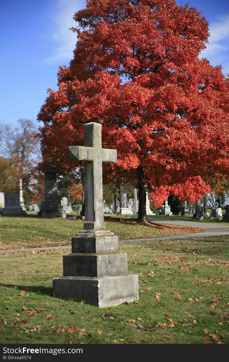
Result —
<svg viewBox="0 0 229 362"><path fill-rule="evenodd" d="M117 151L102 148L102 125L84 124L84 146L68 147L70 161L85 161L84 229L105 229L103 221L102 162L117 162Z"/></svg>

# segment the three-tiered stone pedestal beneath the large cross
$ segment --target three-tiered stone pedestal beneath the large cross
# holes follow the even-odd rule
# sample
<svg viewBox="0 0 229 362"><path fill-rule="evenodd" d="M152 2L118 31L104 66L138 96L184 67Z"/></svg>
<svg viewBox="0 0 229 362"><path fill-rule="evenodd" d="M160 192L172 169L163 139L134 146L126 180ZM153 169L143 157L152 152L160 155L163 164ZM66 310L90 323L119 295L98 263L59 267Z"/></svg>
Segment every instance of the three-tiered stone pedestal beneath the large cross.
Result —
<svg viewBox="0 0 229 362"><path fill-rule="evenodd" d="M128 273L118 236L102 229L73 237L72 253L63 256L63 277L53 279L53 296L100 308L137 299L138 276Z"/></svg>

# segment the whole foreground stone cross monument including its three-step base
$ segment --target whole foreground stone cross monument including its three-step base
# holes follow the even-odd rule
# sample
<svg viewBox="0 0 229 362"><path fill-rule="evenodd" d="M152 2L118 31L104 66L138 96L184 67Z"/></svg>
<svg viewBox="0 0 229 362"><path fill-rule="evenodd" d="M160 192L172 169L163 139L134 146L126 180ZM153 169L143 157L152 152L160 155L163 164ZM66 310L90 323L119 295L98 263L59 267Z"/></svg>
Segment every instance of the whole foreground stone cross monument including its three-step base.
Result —
<svg viewBox="0 0 229 362"><path fill-rule="evenodd" d="M116 150L102 148L101 130L99 123L84 124L85 146L68 148L69 160L85 161L85 222L72 253L63 256L63 277L53 279L53 296L109 307L138 298L138 275L128 273L118 237L105 230L102 162L116 162Z"/></svg>

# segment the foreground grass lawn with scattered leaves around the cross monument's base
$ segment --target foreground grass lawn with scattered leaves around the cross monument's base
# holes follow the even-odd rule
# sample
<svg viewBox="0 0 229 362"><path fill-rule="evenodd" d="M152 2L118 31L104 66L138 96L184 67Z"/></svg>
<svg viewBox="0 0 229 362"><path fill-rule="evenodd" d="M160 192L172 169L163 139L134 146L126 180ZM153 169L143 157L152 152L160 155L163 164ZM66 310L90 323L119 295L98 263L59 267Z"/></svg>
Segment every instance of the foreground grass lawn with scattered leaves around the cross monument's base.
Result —
<svg viewBox="0 0 229 362"><path fill-rule="evenodd" d="M53 226L43 223L45 235ZM139 299L110 308L52 297L70 249L3 252L1 343L228 343L228 246L228 236L120 244L139 275Z"/></svg>

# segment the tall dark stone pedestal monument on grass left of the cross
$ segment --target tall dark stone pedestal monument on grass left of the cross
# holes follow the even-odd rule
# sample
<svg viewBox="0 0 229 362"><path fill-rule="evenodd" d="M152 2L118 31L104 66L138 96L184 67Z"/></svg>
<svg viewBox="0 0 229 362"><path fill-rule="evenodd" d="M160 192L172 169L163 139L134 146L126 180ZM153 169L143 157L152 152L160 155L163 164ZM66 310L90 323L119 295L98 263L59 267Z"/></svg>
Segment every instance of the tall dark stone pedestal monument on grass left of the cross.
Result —
<svg viewBox="0 0 229 362"><path fill-rule="evenodd" d="M42 173L44 174L44 200L41 202L37 216L48 219L65 219L66 213L58 196L57 169L54 166L46 167Z"/></svg>

